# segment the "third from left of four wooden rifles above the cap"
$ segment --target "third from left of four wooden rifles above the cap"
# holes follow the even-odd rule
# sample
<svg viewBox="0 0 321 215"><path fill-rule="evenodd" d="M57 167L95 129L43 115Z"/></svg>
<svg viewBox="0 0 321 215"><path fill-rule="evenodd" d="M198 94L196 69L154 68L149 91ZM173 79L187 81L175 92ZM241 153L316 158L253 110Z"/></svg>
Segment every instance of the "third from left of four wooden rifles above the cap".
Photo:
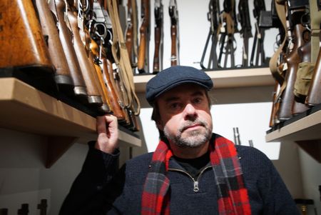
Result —
<svg viewBox="0 0 321 215"><path fill-rule="evenodd" d="M153 59L153 74L163 69L163 4L161 0L155 1L155 52Z"/></svg>

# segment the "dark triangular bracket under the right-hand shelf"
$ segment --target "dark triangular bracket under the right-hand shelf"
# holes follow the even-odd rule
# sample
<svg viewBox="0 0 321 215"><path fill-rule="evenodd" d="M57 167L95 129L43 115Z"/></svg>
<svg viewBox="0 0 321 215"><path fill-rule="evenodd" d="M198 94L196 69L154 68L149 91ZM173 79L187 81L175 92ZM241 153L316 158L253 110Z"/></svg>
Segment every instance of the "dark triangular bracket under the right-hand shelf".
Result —
<svg viewBox="0 0 321 215"><path fill-rule="evenodd" d="M321 139L295 141L301 149L321 163Z"/></svg>

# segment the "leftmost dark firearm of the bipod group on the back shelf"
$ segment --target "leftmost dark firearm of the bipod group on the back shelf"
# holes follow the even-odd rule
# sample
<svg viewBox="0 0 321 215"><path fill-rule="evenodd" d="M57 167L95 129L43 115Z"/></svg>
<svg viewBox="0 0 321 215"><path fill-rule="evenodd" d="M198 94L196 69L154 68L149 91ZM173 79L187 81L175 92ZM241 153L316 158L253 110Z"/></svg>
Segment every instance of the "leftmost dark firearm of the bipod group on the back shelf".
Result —
<svg viewBox="0 0 321 215"><path fill-rule="evenodd" d="M210 0L208 8L208 21L210 21L210 31L208 32L208 38L206 39L202 58L200 59L200 67L202 67L202 69L218 69L218 55L216 54L216 46L218 44L218 20L220 13L220 1ZM212 41L212 46L210 47L210 58L208 60L208 67L206 68L203 63L210 39Z"/></svg>

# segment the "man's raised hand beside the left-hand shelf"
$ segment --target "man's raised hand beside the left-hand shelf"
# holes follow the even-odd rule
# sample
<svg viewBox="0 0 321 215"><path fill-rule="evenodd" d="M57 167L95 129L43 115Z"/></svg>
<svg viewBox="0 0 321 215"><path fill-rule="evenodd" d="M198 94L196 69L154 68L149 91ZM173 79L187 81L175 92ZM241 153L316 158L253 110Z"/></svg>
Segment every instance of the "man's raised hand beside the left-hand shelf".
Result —
<svg viewBox="0 0 321 215"><path fill-rule="evenodd" d="M98 116L96 126L98 138L95 148L113 154L113 151L118 147L118 121L116 116Z"/></svg>

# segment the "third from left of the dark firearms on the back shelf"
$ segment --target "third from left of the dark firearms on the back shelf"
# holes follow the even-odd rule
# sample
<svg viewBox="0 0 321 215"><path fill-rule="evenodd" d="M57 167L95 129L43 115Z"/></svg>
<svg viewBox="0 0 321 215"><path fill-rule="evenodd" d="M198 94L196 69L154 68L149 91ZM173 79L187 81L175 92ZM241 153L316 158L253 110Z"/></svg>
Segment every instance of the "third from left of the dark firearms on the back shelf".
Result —
<svg viewBox="0 0 321 215"><path fill-rule="evenodd" d="M240 34L243 37L243 61L242 66L248 66L248 40L252 37L250 12L248 9L248 0L240 0L238 3L238 21L242 28Z"/></svg>

